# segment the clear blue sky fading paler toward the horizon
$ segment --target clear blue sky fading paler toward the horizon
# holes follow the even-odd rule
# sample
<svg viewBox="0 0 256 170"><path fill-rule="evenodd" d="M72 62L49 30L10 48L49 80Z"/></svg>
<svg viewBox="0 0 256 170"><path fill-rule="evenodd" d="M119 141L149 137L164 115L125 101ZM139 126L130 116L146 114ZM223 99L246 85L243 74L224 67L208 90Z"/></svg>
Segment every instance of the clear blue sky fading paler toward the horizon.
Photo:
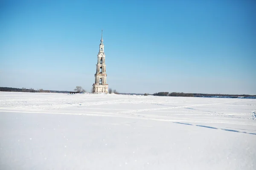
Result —
<svg viewBox="0 0 256 170"><path fill-rule="evenodd" d="M256 1L0 1L0 87L256 94Z"/></svg>

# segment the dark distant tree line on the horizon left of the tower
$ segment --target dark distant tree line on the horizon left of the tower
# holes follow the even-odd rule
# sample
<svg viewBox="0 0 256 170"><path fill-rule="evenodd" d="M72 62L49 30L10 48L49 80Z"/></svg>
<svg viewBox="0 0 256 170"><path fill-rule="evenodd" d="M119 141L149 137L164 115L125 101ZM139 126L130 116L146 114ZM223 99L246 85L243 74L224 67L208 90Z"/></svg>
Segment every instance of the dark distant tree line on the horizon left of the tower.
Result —
<svg viewBox="0 0 256 170"><path fill-rule="evenodd" d="M50 91L50 90L43 90L43 89L35 90L34 88L7 88L7 87L0 87L0 91L30 92L30 93L69 93L69 91Z"/></svg>

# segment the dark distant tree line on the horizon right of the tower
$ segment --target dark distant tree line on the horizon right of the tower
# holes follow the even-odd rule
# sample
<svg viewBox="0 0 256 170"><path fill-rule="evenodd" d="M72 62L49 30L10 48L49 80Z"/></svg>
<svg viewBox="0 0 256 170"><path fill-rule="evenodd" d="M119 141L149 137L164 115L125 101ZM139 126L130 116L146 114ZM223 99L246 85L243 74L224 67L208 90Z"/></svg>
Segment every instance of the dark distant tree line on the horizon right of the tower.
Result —
<svg viewBox="0 0 256 170"><path fill-rule="evenodd" d="M145 95L145 94L144 94ZM148 95L148 94L146 94ZM146 96L145 95L145 96ZM154 96L181 96L181 97L212 97L212 96L230 96L230 97L255 97L256 95L248 95L248 94L193 94L193 93L177 93L177 92L158 92L154 93Z"/></svg>

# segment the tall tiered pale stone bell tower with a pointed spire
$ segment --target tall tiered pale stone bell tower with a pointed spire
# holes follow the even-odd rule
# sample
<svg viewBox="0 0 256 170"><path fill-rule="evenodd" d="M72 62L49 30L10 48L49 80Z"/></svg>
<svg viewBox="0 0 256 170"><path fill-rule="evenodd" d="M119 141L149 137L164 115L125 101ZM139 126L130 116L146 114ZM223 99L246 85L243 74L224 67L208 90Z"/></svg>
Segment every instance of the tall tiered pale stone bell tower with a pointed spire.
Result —
<svg viewBox="0 0 256 170"><path fill-rule="evenodd" d="M108 93L103 39L100 40L93 93Z"/></svg>

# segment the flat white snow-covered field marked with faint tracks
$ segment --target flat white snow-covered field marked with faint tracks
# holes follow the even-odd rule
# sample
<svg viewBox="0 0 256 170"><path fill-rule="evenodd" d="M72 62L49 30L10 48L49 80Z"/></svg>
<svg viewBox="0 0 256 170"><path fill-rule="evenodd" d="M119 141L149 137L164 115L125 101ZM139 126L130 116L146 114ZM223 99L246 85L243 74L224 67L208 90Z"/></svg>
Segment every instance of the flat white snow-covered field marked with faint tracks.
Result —
<svg viewBox="0 0 256 170"><path fill-rule="evenodd" d="M256 99L0 92L0 170L255 170Z"/></svg>

